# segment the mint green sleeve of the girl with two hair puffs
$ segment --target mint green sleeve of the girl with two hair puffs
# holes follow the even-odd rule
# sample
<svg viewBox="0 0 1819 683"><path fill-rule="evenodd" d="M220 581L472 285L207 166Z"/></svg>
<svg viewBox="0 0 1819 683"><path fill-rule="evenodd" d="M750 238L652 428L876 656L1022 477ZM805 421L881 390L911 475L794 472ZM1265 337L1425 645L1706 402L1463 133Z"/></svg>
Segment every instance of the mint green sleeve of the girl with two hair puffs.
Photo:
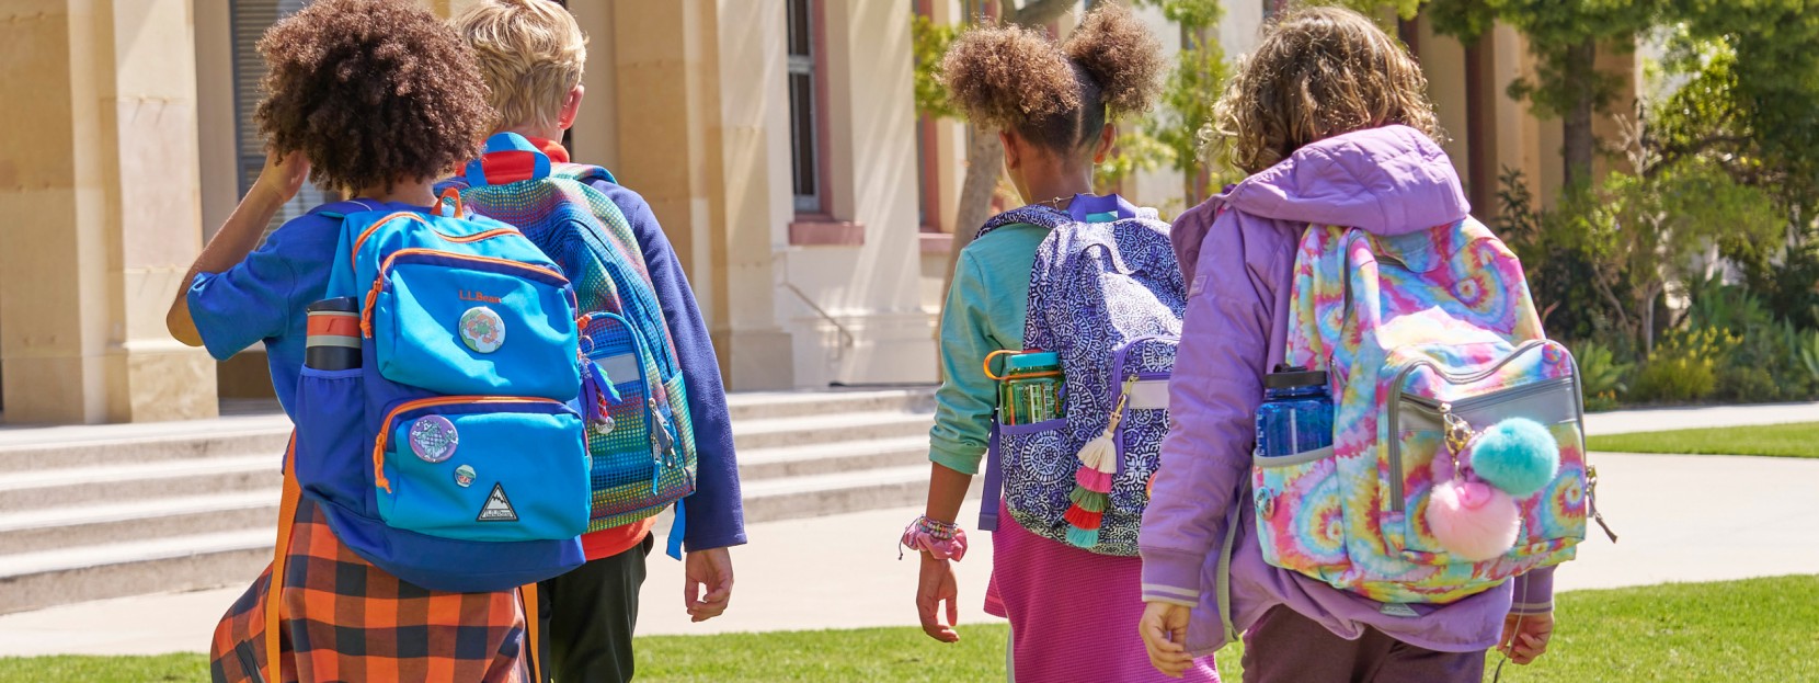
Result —
<svg viewBox="0 0 1819 683"><path fill-rule="evenodd" d="M979 474L999 406L997 382L984 373L986 355L1022 350L1030 270L1044 237L1048 228L1004 226L960 251L940 311L942 384L928 433L930 461Z"/></svg>

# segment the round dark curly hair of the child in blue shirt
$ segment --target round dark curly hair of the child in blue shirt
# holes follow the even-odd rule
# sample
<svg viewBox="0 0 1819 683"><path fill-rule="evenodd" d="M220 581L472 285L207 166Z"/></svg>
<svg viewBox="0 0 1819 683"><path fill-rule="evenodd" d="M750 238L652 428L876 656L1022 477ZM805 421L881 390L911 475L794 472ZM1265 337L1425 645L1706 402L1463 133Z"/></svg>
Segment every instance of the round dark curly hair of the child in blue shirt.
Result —
<svg viewBox="0 0 1819 683"><path fill-rule="evenodd" d="M276 153L346 191L433 180L478 155L497 117L473 49L417 2L318 0L258 42L255 118Z"/></svg>

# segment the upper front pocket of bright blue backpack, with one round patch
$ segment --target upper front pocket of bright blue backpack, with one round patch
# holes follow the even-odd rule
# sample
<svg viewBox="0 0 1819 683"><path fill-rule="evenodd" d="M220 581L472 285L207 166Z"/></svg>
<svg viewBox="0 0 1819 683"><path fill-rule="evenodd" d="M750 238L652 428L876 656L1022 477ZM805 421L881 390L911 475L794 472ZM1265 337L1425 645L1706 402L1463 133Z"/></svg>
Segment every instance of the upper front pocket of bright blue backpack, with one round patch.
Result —
<svg viewBox="0 0 1819 683"><path fill-rule="evenodd" d="M447 395L580 392L568 280L548 268L398 250L367 295L378 373Z"/></svg>

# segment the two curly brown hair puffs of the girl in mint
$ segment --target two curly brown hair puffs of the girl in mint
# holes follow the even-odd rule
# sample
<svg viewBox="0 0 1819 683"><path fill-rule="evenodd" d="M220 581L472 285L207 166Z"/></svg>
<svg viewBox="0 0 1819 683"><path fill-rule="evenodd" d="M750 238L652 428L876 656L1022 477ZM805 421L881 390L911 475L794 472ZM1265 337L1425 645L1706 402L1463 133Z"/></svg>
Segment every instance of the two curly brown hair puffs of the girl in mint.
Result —
<svg viewBox="0 0 1819 683"><path fill-rule="evenodd" d="M977 27L940 60L940 78L966 118L1053 151L1088 148L1108 117L1150 109L1162 69L1162 44L1110 2L1088 13L1066 44L1017 25Z"/></svg>

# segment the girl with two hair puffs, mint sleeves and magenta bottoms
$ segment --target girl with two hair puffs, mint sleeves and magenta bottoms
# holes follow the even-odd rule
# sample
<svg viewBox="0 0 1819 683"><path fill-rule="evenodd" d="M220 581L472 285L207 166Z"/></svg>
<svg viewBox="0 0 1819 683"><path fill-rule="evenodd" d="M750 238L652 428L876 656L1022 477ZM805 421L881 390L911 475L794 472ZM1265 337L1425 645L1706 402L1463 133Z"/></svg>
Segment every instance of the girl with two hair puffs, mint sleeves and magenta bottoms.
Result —
<svg viewBox="0 0 1819 683"><path fill-rule="evenodd" d="M1070 215L1088 206L1115 208L1111 213L1121 219L1139 215L1115 195L1093 195L1093 164L1111 148L1110 118L1148 109L1162 71L1159 53L1159 42L1128 9L1100 4L1066 44L1020 27L973 29L942 62L948 87L968 118L1000 129L1004 169L1028 204L1017 211L1030 220L988 222L990 235L960 253L942 310L944 384L930 433L928 510L904 535L904 545L920 550L917 610L930 637L946 643L960 637L951 628L957 614L951 563L962 559L966 535L955 517L988 455L1000 408L997 384L982 366L993 352L1026 348L1037 248L1055 224L1079 222ZM1091 222L1102 220L1111 219L1093 213ZM1177 275L1173 259L1168 270L1168 277ZM1050 455L1073 461L1071 450ZM1066 470L1071 484L1073 468ZM1006 499L1024 494L1017 486L1017 479L1006 479ZM1066 505L1066 490L1060 492ZM988 495L984 505L988 515L999 517L986 610L1010 619L1008 663L1015 679L1162 679L1131 634L1141 612L1137 557L1095 554L1070 545L1071 537L1039 535L999 499ZM1188 670L1195 681L1217 681L1211 658L1190 663Z"/></svg>

